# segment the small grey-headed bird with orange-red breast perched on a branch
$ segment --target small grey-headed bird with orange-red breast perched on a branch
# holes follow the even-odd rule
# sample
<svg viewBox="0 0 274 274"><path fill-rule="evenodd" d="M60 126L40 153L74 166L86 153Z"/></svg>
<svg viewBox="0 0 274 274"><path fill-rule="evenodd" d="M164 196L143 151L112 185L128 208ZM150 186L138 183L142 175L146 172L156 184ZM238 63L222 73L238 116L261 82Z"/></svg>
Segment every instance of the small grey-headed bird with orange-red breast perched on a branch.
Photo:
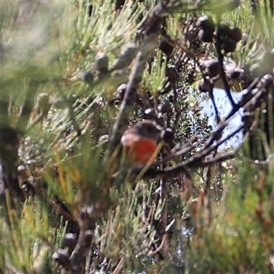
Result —
<svg viewBox="0 0 274 274"><path fill-rule="evenodd" d="M153 153L157 149L159 140L160 130L153 121L146 120L127 129L121 138L121 145L127 149L127 159L136 166L155 160L157 155Z"/></svg>

